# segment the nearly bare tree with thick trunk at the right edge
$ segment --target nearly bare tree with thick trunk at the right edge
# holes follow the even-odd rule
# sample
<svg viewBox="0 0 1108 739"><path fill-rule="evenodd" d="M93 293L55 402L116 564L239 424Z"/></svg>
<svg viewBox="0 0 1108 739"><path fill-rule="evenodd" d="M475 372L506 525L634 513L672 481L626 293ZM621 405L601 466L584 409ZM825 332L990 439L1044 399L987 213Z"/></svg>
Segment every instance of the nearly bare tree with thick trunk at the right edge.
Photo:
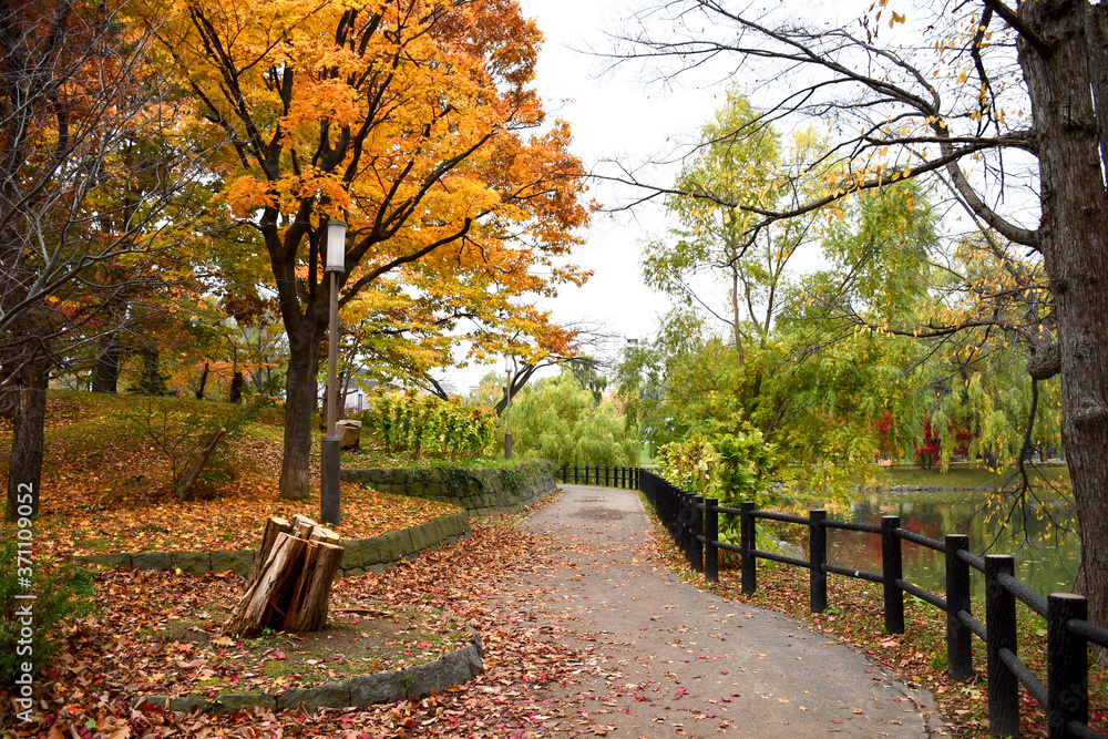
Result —
<svg viewBox="0 0 1108 739"><path fill-rule="evenodd" d="M767 120L829 125L843 174L800 207L758 213L752 230L930 175L972 217L1042 259L1057 343L1037 347L1028 367L1039 380L1061 373L1081 530L1077 587L1098 623L1108 622L1106 13L1087 0L882 0L860 22L833 28L679 0L642 11L619 52L678 66L731 57L770 97ZM794 83L772 85L786 70Z"/></svg>

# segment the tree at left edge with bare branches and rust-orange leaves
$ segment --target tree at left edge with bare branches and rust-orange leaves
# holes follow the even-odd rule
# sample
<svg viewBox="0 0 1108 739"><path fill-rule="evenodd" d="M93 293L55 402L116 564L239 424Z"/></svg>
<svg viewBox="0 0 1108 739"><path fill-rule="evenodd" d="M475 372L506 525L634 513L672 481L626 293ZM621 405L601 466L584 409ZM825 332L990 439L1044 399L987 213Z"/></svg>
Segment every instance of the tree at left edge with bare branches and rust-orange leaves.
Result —
<svg viewBox="0 0 1108 739"><path fill-rule="evenodd" d="M30 484L38 511L50 373L127 286L153 289L158 256L196 173L173 135L167 81L150 37L117 3L0 6L0 412L12 421L10 505Z"/></svg>

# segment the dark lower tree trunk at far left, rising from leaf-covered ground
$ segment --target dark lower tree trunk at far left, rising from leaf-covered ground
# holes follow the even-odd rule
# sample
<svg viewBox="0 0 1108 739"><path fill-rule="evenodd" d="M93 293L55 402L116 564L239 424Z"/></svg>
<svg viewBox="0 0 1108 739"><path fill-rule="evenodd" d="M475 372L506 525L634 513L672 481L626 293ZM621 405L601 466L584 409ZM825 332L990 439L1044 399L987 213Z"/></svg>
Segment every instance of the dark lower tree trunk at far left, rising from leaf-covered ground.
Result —
<svg viewBox="0 0 1108 739"><path fill-rule="evenodd" d="M18 380L12 412L11 464L8 468L8 519L14 521L18 504L31 493L31 516L39 515L42 485L43 421L50 370L41 359L30 362Z"/></svg>

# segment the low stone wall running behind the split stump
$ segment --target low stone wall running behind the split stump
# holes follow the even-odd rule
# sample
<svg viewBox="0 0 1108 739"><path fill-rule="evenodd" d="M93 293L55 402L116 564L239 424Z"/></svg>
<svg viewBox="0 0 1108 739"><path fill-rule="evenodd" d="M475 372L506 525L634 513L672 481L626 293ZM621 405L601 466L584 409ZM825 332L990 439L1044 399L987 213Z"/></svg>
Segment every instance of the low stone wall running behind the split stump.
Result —
<svg viewBox="0 0 1108 739"><path fill-rule="evenodd" d="M372 538L340 541L346 548L337 577L383 572L432 546L451 544L470 533L470 516L464 511L434 519L419 526L402 528ZM237 552L126 552L78 557L81 562L135 569L179 568L191 575L234 569L246 575L254 565L254 550Z"/></svg>

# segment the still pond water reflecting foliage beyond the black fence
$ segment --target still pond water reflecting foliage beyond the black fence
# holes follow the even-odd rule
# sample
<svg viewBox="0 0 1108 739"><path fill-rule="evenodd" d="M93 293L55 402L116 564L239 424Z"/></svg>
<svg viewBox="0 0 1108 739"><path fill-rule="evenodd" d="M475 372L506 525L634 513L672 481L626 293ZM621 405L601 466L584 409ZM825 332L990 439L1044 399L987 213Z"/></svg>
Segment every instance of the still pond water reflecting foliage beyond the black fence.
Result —
<svg viewBox="0 0 1108 739"><path fill-rule="evenodd" d="M1010 554L1016 577L1036 592L1069 592L1080 562L1077 521L1069 501L1027 500L1020 505L998 493L875 493L851 504L851 520L881 523L897 515L901 527L943 541L968 534L978 555ZM945 555L903 542L904 578L945 594ZM881 572L881 537L842 530L828 532L828 561L843 567ZM975 595L984 594L984 576L971 571Z"/></svg>

